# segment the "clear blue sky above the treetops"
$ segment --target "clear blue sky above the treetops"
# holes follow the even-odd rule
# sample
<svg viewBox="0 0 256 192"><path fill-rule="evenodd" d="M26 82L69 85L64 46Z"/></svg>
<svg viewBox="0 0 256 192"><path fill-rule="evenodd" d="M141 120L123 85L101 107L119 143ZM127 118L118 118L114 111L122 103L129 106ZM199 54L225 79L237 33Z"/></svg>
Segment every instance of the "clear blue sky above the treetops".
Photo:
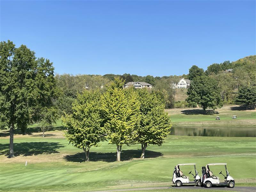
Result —
<svg viewBox="0 0 256 192"><path fill-rule="evenodd" d="M57 73L187 74L255 55L255 1L3 1L0 40Z"/></svg>

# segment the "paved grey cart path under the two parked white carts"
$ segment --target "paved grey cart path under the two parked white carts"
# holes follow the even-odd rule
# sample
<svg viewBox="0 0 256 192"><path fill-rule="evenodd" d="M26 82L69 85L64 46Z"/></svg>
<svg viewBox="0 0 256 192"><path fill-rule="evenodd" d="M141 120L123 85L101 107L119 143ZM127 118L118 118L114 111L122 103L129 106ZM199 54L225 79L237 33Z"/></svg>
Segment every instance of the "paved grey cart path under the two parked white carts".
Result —
<svg viewBox="0 0 256 192"><path fill-rule="evenodd" d="M196 186L182 186L182 187L147 187L147 188L130 188L130 189L113 189L105 191L92 191L92 192L115 192L115 191L140 191L140 190L157 190L157 189L207 189L207 190L224 190L224 191L240 191L240 192L255 192L256 187L234 187L227 188L222 186L213 186L212 188L196 187Z"/></svg>

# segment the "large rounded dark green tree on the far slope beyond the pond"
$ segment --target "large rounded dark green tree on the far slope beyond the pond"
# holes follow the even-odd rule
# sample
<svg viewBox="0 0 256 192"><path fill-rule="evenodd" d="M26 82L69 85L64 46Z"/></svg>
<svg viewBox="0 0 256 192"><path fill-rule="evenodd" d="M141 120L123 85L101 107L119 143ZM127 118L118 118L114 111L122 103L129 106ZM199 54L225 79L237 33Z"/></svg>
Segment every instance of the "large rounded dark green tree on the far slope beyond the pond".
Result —
<svg viewBox="0 0 256 192"><path fill-rule="evenodd" d="M188 88L187 94L186 101L188 105L192 107L198 105L204 109L204 112L206 108L214 110L222 106L217 81L208 76L195 77Z"/></svg>

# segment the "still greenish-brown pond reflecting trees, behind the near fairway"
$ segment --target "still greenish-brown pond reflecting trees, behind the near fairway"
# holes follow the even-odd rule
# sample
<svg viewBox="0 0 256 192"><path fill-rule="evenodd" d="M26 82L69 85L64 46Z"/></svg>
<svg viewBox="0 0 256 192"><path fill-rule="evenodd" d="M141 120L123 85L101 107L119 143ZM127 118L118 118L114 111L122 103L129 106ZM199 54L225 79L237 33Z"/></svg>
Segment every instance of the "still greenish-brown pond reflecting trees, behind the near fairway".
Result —
<svg viewBox="0 0 256 192"><path fill-rule="evenodd" d="M172 126L171 135L205 137L256 137L256 127Z"/></svg>

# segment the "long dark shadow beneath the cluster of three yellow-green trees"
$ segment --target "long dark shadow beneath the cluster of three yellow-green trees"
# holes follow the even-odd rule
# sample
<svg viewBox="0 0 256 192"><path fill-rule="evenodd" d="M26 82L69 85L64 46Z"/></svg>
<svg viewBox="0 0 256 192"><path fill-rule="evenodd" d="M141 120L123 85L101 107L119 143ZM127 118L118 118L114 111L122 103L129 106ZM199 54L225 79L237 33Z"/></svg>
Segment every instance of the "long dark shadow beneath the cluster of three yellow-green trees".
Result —
<svg viewBox="0 0 256 192"><path fill-rule="evenodd" d="M130 149L130 150L122 150L121 152L121 161L132 160L133 158L140 158L141 149ZM153 158L163 156L162 153L156 151L145 150L145 158ZM76 153L75 155L66 155L63 157L66 161L71 162L79 162L82 163L85 161L85 154ZM90 161L105 161L105 162L114 162L116 161L116 153L98 153L98 152L90 152L89 154Z"/></svg>

